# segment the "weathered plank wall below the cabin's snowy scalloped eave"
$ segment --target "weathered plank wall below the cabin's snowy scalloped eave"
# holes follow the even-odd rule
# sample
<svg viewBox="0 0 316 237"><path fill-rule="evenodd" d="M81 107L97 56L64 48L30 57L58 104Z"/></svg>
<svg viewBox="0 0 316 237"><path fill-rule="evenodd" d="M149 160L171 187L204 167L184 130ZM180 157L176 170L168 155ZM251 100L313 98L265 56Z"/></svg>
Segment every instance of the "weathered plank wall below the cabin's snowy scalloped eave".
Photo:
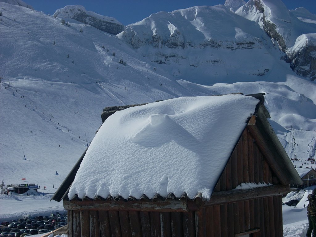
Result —
<svg viewBox="0 0 316 237"><path fill-rule="evenodd" d="M206 210L203 209L203 213ZM68 211L68 233L76 237L167 237L206 236L205 213L195 212ZM203 221L203 222L202 222ZM207 221L213 224L213 217ZM196 230L196 225L202 232ZM196 235L197 234L197 235Z"/></svg>

